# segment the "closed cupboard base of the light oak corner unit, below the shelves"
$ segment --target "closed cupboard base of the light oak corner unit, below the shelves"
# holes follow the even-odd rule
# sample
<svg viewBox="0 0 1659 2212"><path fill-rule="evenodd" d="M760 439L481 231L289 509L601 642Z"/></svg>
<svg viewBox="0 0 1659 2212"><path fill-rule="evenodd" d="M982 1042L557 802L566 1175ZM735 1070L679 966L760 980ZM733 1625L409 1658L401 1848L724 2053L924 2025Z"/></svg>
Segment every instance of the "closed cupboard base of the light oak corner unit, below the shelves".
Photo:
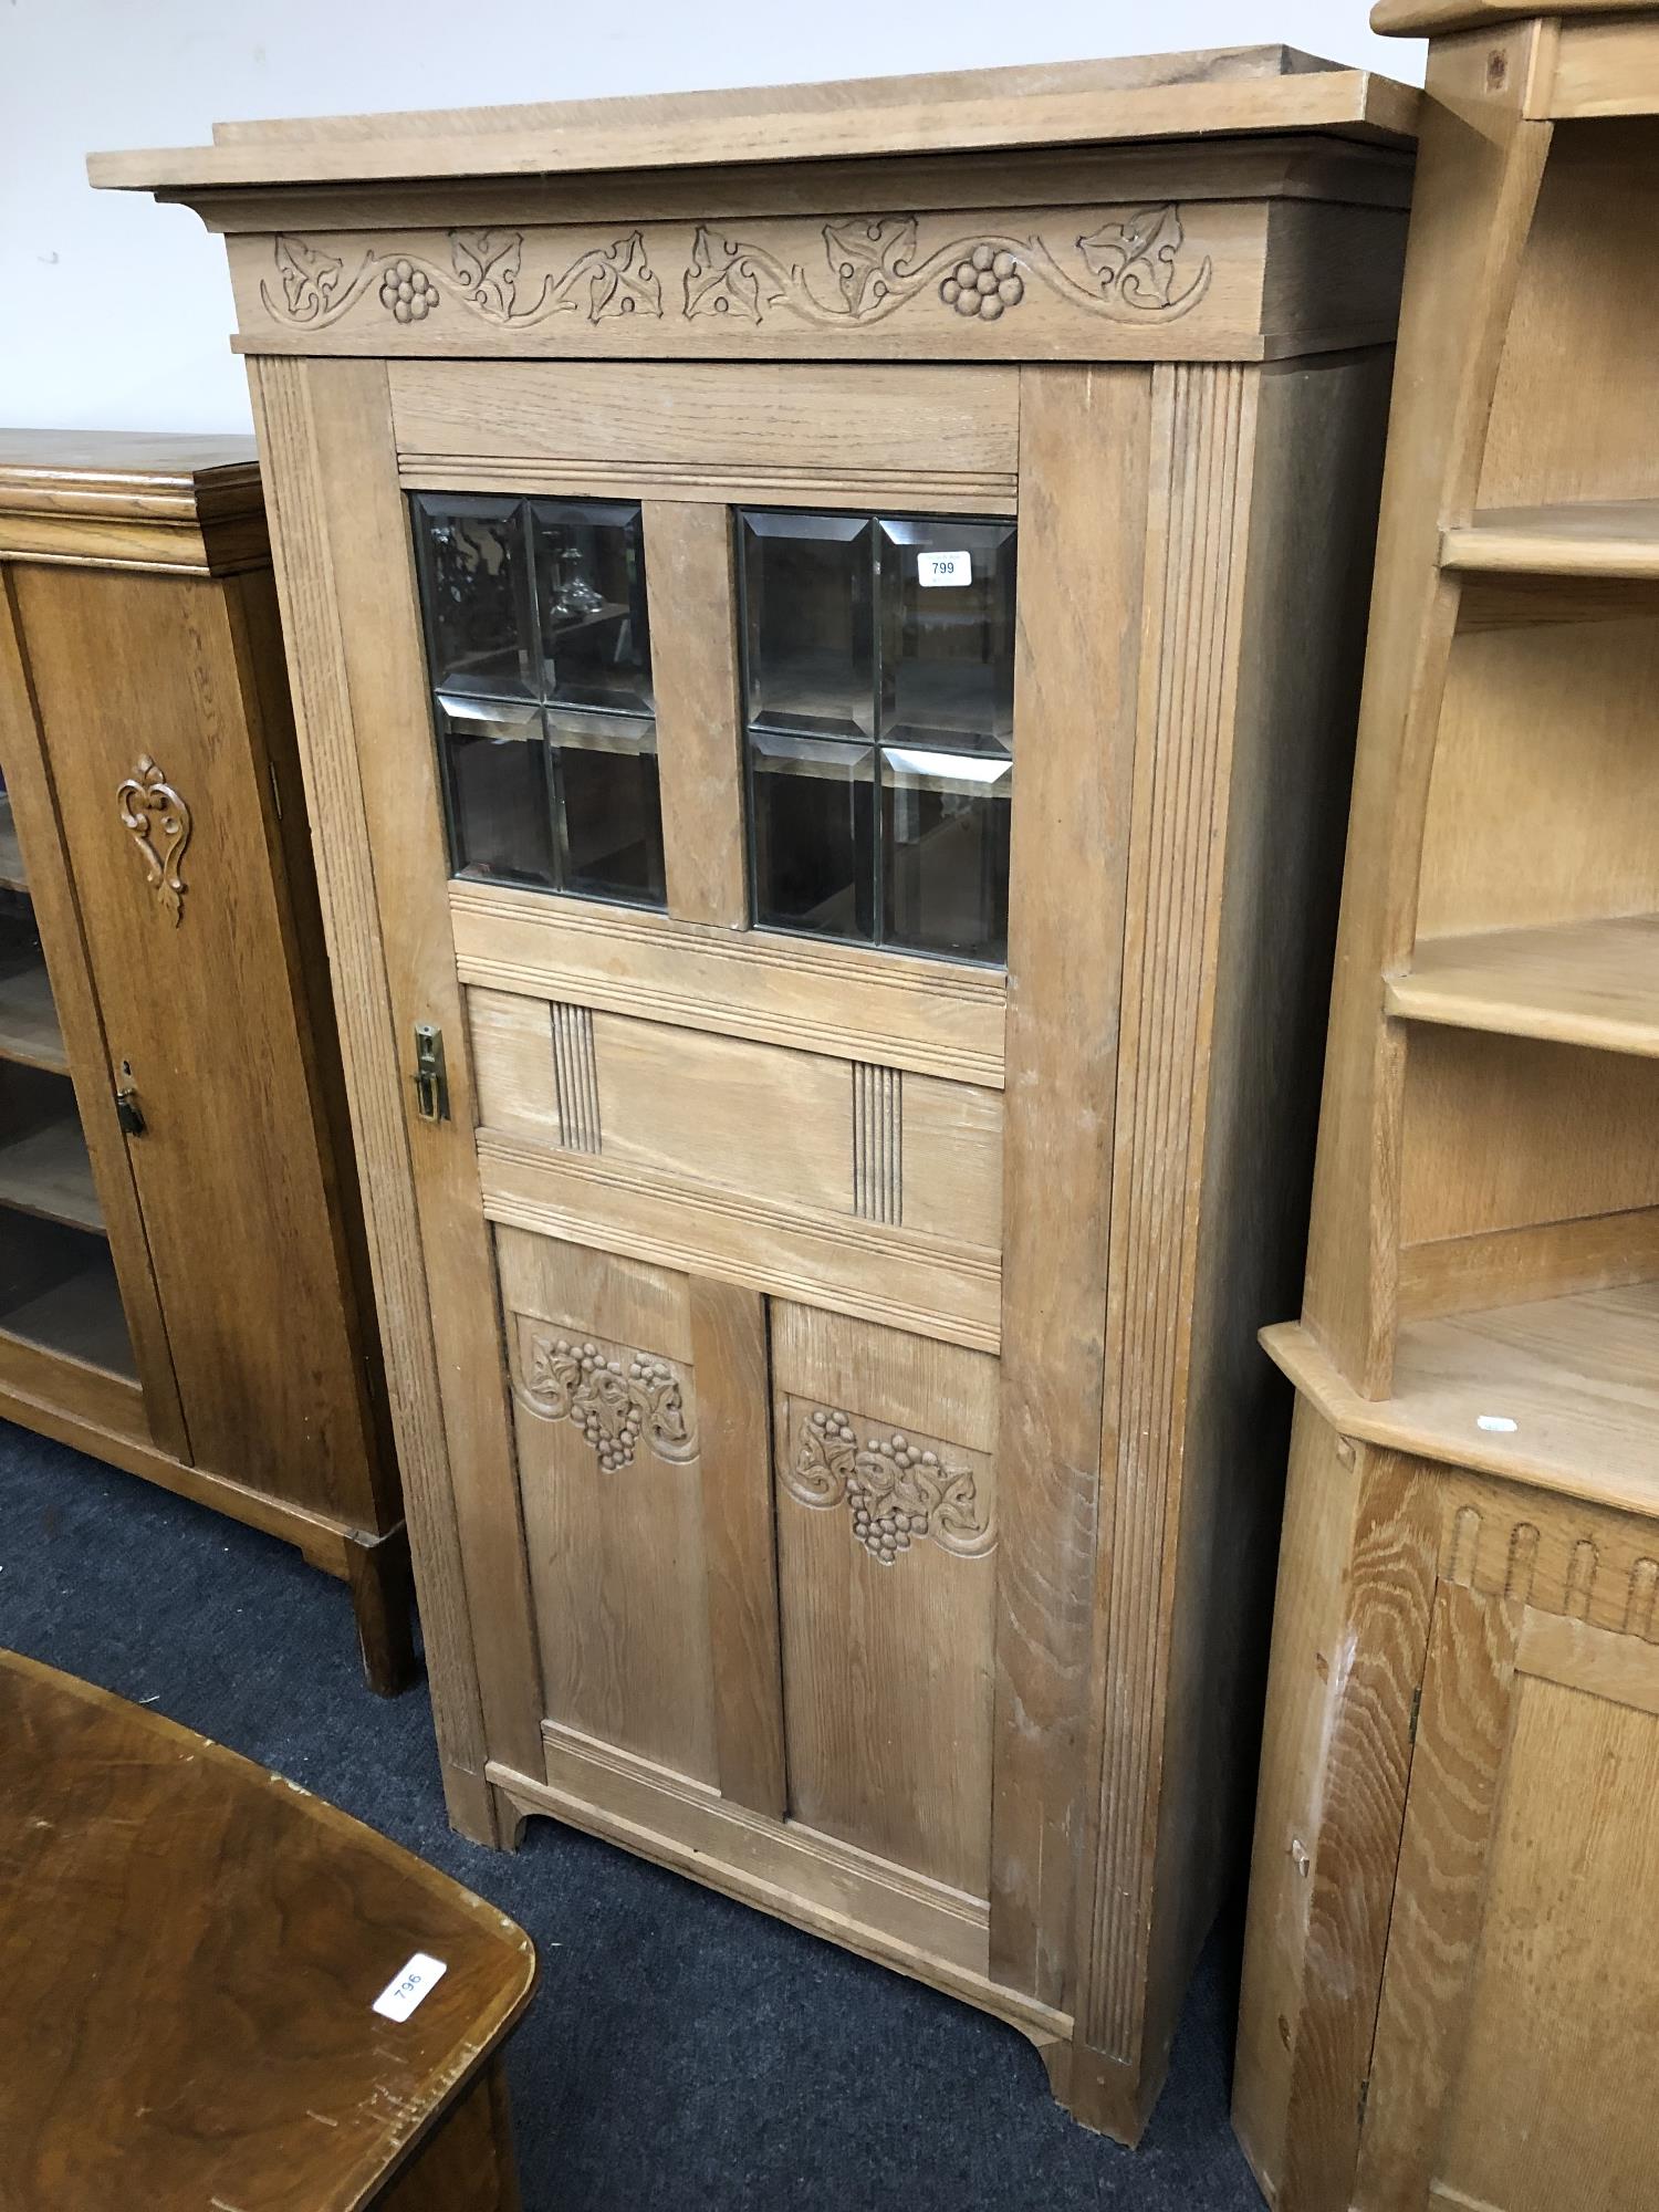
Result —
<svg viewBox="0 0 1659 2212"><path fill-rule="evenodd" d="M1652 1880L1655 1500L1586 1502L1524 1471L1356 1451L1312 1407L1298 1420L1323 1444L1292 1460L1287 1528L1318 1520L1327 1537L1296 1540L1301 1595L1274 1632L1234 2093L1245 2148L1272 2201L1298 2212L1624 2212L1644 2201L1655 2148L1652 1971L1628 1922ZM1307 1663L1305 1621L1329 1619L1365 1573L1334 1460L1358 1460L1360 1480L1407 1473L1433 1564L1427 1637L1391 1692L1409 1701L1409 1781L1402 1798L1376 1787L1345 1809L1327 1681L1398 1652L1400 1617L1321 1639ZM1292 1759L1307 1759L1323 1807L1318 1851L1334 1825L1367 1836L1376 1878L1352 1891L1325 1955L1283 1962L1267 1949L1287 1880L1267 1803ZM1329 2066L1305 2022L1325 1991L1358 2002L1345 2093L1321 2108Z"/></svg>

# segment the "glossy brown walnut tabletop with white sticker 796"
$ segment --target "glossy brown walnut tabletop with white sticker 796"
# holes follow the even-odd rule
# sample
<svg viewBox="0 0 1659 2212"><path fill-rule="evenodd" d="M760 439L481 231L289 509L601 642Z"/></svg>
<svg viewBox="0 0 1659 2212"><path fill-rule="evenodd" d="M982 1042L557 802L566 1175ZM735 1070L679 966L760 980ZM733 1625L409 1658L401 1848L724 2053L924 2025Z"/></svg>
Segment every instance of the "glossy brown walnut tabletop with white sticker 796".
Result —
<svg viewBox="0 0 1659 2212"><path fill-rule="evenodd" d="M445 1962L407 2020L376 1997ZM493 1905L310 1792L0 1652L0 2205L347 2212L535 1986Z"/></svg>

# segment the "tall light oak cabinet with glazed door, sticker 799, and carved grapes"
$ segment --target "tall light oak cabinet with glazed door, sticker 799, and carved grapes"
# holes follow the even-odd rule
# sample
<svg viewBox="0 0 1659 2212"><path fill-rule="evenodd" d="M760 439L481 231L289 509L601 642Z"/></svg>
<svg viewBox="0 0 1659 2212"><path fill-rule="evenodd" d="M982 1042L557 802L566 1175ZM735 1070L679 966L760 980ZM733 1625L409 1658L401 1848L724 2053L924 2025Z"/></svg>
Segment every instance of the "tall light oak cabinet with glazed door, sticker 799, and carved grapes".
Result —
<svg viewBox="0 0 1659 2212"><path fill-rule="evenodd" d="M1135 2139L1239 1849L1416 95L221 126L453 1820Z"/></svg>

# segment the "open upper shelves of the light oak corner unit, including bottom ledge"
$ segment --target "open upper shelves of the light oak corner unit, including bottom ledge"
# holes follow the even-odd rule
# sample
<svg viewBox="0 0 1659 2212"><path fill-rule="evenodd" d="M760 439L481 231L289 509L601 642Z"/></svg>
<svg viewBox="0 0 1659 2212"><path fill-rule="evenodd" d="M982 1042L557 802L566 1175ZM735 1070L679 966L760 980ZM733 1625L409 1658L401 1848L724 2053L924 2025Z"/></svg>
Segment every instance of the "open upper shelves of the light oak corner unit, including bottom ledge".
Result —
<svg viewBox="0 0 1659 2212"><path fill-rule="evenodd" d="M1433 18L1307 1292L1265 1343L1345 1433L1590 1495L1659 1464L1659 82L1639 11L1511 13Z"/></svg>

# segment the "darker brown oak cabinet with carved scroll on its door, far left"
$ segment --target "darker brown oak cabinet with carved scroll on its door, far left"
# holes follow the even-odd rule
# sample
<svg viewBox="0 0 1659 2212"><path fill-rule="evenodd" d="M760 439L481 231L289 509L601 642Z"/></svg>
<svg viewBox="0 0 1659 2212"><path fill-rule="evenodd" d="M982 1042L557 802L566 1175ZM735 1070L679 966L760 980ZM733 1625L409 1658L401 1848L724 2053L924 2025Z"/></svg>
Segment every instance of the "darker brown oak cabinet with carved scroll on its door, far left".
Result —
<svg viewBox="0 0 1659 2212"><path fill-rule="evenodd" d="M407 1544L250 438L0 431L0 1416L347 1577L394 1690Z"/></svg>

